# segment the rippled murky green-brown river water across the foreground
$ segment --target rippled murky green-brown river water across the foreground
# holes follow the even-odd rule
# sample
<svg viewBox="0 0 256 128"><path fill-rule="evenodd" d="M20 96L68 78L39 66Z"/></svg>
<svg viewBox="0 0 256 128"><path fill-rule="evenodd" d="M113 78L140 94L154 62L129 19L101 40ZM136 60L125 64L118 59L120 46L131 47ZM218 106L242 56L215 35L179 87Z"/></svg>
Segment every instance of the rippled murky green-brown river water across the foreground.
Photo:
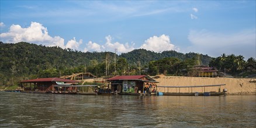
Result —
<svg viewBox="0 0 256 128"><path fill-rule="evenodd" d="M255 95L0 96L0 127L256 127Z"/></svg>

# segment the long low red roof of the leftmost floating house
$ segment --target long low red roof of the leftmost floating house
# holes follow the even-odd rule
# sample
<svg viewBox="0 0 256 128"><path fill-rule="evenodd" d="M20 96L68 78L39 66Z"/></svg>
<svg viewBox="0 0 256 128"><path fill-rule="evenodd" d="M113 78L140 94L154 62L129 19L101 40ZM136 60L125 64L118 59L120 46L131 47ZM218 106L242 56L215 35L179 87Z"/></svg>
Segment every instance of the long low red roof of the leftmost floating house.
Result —
<svg viewBox="0 0 256 128"><path fill-rule="evenodd" d="M50 82L50 81L59 81L59 82L66 82L66 83L78 83L78 81L75 80L68 80L68 79L60 79L60 78L39 78L39 79L33 79L33 80L24 80L20 81L20 83L34 83L34 82Z"/></svg>

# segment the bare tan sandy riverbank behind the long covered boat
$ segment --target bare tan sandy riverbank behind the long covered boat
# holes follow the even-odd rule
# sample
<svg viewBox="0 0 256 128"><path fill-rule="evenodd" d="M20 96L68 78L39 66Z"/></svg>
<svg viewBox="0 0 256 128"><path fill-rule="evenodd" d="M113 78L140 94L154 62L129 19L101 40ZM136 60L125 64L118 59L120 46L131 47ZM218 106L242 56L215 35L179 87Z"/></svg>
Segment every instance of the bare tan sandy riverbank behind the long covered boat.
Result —
<svg viewBox="0 0 256 128"><path fill-rule="evenodd" d="M155 79L155 78L154 78ZM241 94L256 94L256 79L234 79L234 78L209 78L209 77L160 77L155 79L158 81L158 86L200 86L200 85L213 85L213 84L226 84L221 86L221 91L226 88L229 95L241 95ZM254 81L254 82L252 82ZM193 88L181 88L181 93L186 92L203 92L203 91L218 91L219 87L199 87ZM179 88L158 88L158 91L162 92L177 92Z"/></svg>

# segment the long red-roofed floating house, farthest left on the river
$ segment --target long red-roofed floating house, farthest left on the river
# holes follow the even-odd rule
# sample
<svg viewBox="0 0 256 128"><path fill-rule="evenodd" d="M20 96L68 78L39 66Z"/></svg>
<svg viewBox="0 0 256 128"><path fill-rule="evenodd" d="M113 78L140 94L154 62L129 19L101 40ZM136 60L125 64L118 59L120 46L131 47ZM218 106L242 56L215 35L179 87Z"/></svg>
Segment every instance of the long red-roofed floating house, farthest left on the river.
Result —
<svg viewBox="0 0 256 128"><path fill-rule="evenodd" d="M47 92L74 92L77 87L78 81L60 79L60 78L40 78L33 80L20 81L20 86L24 91L33 91L34 93L47 93Z"/></svg>

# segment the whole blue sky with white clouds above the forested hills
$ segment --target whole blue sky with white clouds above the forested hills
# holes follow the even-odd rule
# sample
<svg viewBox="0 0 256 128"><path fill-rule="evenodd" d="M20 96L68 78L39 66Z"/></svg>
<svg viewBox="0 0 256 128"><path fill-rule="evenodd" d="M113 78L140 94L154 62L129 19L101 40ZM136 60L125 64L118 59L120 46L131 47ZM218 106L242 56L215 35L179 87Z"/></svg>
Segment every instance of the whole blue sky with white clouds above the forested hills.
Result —
<svg viewBox="0 0 256 128"><path fill-rule="evenodd" d="M255 1L0 1L0 41L256 58Z"/></svg>

